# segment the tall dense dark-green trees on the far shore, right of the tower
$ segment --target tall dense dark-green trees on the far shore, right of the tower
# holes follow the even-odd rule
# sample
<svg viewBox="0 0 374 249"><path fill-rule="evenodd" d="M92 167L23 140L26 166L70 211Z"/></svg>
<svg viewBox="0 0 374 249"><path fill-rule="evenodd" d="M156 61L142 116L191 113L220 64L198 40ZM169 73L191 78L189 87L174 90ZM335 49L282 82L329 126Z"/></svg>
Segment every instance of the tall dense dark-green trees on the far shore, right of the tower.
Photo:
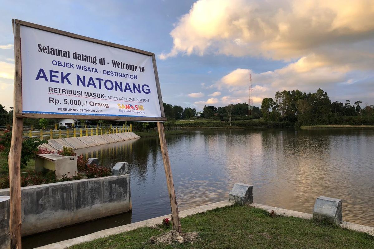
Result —
<svg viewBox="0 0 374 249"><path fill-rule="evenodd" d="M331 102L327 92L319 88L315 93L303 93L299 90L277 91L273 98L264 98L261 102L261 112L267 121L283 122L285 124L320 125L374 124L374 105L362 101L345 103Z"/></svg>

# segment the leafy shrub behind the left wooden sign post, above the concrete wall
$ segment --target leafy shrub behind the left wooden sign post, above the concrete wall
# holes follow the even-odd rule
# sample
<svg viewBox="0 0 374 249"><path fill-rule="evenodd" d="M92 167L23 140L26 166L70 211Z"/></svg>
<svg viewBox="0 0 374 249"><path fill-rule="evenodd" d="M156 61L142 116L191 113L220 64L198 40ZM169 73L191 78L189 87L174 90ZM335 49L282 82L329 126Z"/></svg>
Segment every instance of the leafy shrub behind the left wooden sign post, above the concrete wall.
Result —
<svg viewBox="0 0 374 249"><path fill-rule="evenodd" d="M1 155L8 157L10 151L10 142L12 140L12 131L4 133L0 136L0 145L4 146L4 150L1 152ZM33 159L38 151L38 146L47 143L47 140L40 140L39 138L30 137L22 141L22 150L21 150L21 168L27 166L28 161ZM6 168L8 167L6 162Z"/></svg>

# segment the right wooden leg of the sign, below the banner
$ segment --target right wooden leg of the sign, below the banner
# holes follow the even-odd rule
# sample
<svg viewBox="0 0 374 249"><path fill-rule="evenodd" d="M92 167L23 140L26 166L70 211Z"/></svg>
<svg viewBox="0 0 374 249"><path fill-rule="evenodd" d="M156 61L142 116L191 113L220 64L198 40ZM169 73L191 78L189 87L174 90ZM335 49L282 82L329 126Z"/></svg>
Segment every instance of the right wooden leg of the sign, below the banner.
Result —
<svg viewBox="0 0 374 249"><path fill-rule="evenodd" d="M166 138L165 138L165 131L163 128L163 123L157 122L157 128L159 130L162 159L164 162L164 169L165 169L165 175L166 175L166 184L168 185L168 191L169 191L171 219L173 222L172 225L173 225L174 230L177 230L178 232L181 233L182 227L181 227L181 222L179 219L177 198L175 197L173 175L171 174L168 146L166 146Z"/></svg>

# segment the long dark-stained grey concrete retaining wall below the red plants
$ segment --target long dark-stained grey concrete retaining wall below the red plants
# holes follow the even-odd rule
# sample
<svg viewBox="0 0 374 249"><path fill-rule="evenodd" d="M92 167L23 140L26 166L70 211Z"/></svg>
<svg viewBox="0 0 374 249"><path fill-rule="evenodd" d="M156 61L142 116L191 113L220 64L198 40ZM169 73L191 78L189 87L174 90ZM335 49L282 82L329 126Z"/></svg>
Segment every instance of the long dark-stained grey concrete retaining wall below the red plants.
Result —
<svg viewBox="0 0 374 249"><path fill-rule="evenodd" d="M21 204L22 236L120 214L132 208L129 175L21 187Z"/></svg>

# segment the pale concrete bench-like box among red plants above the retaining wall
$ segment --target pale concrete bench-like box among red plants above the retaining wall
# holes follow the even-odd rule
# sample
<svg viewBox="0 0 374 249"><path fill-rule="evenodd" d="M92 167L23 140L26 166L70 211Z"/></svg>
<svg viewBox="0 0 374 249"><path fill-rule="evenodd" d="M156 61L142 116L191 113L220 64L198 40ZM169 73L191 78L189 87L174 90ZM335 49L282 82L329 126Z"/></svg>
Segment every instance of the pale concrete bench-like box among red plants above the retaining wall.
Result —
<svg viewBox="0 0 374 249"><path fill-rule="evenodd" d="M43 169L55 171L57 179L61 179L64 174L68 177L74 176L78 171L77 157L58 154L36 155L35 171L42 171Z"/></svg>

